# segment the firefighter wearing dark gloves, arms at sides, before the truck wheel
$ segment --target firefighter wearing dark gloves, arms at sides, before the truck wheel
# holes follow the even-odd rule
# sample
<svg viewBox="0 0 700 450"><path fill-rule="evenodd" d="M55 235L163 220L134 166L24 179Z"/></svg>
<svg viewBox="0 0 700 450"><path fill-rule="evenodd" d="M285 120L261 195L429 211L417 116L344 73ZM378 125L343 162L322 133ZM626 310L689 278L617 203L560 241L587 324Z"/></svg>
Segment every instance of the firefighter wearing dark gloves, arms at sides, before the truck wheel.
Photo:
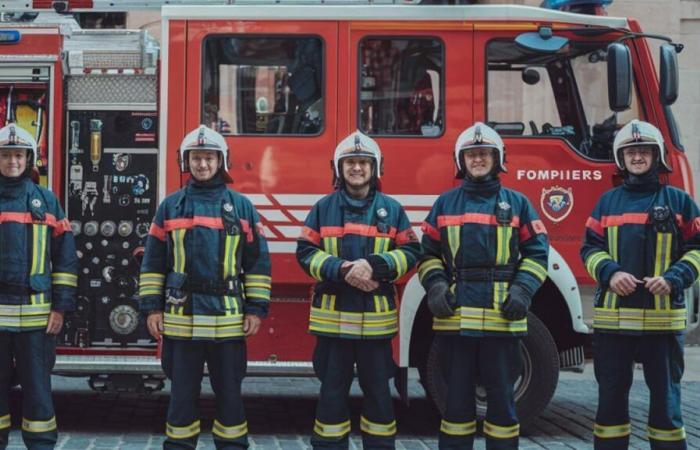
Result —
<svg viewBox="0 0 700 450"><path fill-rule="evenodd" d="M513 383L530 303L547 277L547 235L530 201L501 186L505 150L495 130L477 122L462 132L454 158L463 181L428 214L418 269L447 379L438 445L473 447L478 377L488 403L486 448L517 449Z"/></svg>

